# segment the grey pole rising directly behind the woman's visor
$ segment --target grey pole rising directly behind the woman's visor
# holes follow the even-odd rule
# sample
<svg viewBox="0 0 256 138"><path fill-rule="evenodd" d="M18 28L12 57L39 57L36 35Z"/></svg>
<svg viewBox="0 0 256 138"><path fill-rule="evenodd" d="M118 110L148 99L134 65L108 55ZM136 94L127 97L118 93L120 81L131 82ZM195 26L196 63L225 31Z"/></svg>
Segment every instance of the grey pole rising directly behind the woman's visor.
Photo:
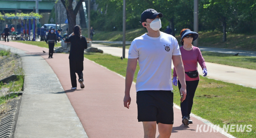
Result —
<svg viewBox="0 0 256 138"><path fill-rule="evenodd" d="M198 33L198 0L194 0L194 32ZM198 47L198 39L193 43L195 47Z"/></svg>

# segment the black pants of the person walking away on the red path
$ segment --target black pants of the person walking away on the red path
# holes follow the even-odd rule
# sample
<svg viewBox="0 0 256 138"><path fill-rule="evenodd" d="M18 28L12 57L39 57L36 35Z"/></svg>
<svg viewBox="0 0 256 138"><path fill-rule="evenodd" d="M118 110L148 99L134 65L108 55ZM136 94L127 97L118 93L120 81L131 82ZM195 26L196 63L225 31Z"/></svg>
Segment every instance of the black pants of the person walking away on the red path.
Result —
<svg viewBox="0 0 256 138"><path fill-rule="evenodd" d="M76 73L79 77L78 80L84 81L82 72L84 70L84 61L69 60L69 68L72 87L76 87Z"/></svg>

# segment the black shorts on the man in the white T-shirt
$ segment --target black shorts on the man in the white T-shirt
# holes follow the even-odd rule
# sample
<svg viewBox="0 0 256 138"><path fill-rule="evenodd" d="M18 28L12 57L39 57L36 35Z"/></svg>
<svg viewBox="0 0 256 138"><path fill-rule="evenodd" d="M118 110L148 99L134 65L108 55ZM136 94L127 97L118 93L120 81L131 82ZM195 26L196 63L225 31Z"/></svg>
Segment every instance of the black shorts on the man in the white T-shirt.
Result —
<svg viewBox="0 0 256 138"><path fill-rule="evenodd" d="M138 121L173 124L172 91L138 91Z"/></svg>

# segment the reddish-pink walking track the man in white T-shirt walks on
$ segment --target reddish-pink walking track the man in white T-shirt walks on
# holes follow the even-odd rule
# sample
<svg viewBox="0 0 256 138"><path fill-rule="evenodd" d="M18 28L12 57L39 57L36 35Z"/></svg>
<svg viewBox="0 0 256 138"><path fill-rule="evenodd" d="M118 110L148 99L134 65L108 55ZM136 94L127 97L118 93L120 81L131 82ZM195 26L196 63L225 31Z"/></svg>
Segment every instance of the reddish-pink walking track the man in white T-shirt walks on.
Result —
<svg viewBox="0 0 256 138"><path fill-rule="evenodd" d="M21 45L15 42L5 43L5 45L26 50L31 54L40 54L43 49L41 47L26 44ZM137 122L135 84L131 87L132 101L130 109L127 109L123 107L125 79L122 76L85 59L83 71L85 88L79 89L78 86L76 91L72 91L70 90L69 54L54 53L53 59L47 59L46 54L41 56L57 75L89 138L143 138L143 125L141 122ZM38 59L33 60L39 62ZM62 95L61 92L57 90L53 91L55 92L52 93L58 93L56 95ZM56 101L52 102L59 104ZM37 102L35 102L35 104L36 103ZM62 103L61 105L65 106L66 104ZM55 115L56 113L58 114L58 112L59 111L56 110L56 112L49 114ZM66 112L64 114L66 114ZM181 123L181 111L178 108L174 108L174 125L171 138L184 136L186 136L186 138L227 138L219 132L196 132L197 125L204 125L205 123L194 117L191 117L191 119L193 120L193 124L183 126ZM18 121L20 121L20 118ZM24 122L26 122L26 120L24 120ZM30 123L30 125L34 126L33 123ZM44 126L41 125L38 127L44 128ZM59 128L59 126L55 127ZM38 128L38 130L41 129ZM44 137L43 133L47 134L47 131L41 133L41 137ZM156 135L158 135L158 132ZM30 136L33 137L32 135ZM233 138L230 135L229 137Z"/></svg>

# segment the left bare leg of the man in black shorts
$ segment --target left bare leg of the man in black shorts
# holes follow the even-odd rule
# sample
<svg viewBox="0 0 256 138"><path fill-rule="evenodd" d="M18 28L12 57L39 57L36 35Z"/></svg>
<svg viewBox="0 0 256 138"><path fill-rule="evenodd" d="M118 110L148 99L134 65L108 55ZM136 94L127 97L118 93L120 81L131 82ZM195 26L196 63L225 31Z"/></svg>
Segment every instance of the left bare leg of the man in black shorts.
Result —
<svg viewBox="0 0 256 138"><path fill-rule="evenodd" d="M155 138L155 133L157 131L157 122L143 122L144 138Z"/></svg>

